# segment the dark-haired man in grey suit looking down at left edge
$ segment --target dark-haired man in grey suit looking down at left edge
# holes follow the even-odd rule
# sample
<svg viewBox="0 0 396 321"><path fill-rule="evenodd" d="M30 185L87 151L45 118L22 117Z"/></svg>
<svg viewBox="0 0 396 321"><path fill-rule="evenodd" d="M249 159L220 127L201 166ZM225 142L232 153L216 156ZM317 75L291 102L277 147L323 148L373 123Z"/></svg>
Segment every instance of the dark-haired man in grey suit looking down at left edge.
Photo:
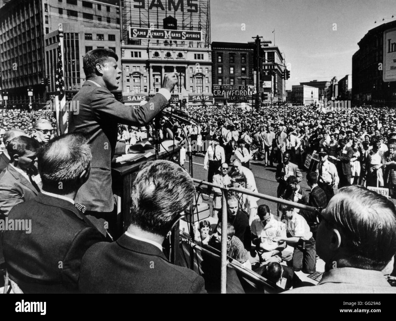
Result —
<svg viewBox="0 0 396 321"><path fill-rule="evenodd" d="M26 136L8 143L10 163L0 174L0 218L8 216L16 204L34 199L40 192L41 179L34 166L40 144Z"/></svg>

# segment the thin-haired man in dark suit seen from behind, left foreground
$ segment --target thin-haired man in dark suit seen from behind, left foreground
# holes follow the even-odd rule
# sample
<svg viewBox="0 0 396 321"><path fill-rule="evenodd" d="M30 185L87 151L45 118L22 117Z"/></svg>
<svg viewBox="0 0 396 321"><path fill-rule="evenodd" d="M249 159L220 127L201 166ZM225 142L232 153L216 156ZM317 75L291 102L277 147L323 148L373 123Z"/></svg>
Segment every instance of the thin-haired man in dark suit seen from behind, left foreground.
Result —
<svg viewBox="0 0 396 321"><path fill-rule="evenodd" d="M42 192L9 215L30 222L30 232L3 233L8 273L24 293L77 292L82 256L104 240L74 204L78 188L88 179L90 162L91 151L81 134L57 137L38 153Z"/></svg>

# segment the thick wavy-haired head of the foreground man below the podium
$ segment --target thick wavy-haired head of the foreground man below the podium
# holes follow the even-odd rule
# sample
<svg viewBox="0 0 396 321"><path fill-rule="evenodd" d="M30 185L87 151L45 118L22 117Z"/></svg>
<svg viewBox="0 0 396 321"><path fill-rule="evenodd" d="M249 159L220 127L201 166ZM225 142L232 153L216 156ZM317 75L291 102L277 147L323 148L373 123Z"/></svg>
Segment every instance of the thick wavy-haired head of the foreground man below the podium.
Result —
<svg viewBox="0 0 396 321"><path fill-rule="evenodd" d="M131 224L165 236L194 194L194 182L183 168L169 161L148 162L132 186Z"/></svg>

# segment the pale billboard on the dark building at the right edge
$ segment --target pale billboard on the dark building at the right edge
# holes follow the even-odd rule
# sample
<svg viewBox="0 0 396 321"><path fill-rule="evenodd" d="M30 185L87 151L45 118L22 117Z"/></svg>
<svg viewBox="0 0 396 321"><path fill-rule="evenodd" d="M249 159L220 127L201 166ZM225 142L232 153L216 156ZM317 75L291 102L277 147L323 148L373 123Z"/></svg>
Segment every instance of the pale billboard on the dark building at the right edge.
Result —
<svg viewBox="0 0 396 321"><path fill-rule="evenodd" d="M396 81L396 28L384 31L384 81Z"/></svg>

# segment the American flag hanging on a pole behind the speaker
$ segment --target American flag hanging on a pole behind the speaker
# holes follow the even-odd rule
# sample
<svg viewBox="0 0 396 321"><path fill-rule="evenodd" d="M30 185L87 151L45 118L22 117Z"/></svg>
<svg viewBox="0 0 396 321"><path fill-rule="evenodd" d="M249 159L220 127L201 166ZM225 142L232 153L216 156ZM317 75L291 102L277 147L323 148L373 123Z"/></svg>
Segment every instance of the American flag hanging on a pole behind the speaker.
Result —
<svg viewBox="0 0 396 321"><path fill-rule="evenodd" d="M59 37L60 38L60 37ZM58 135L67 133L67 111L66 95L65 95L65 80L63 78L63 63L62 63L62 45L61 39L58 44L58 62L56 64L55 73L55 116Z"/></svg>

